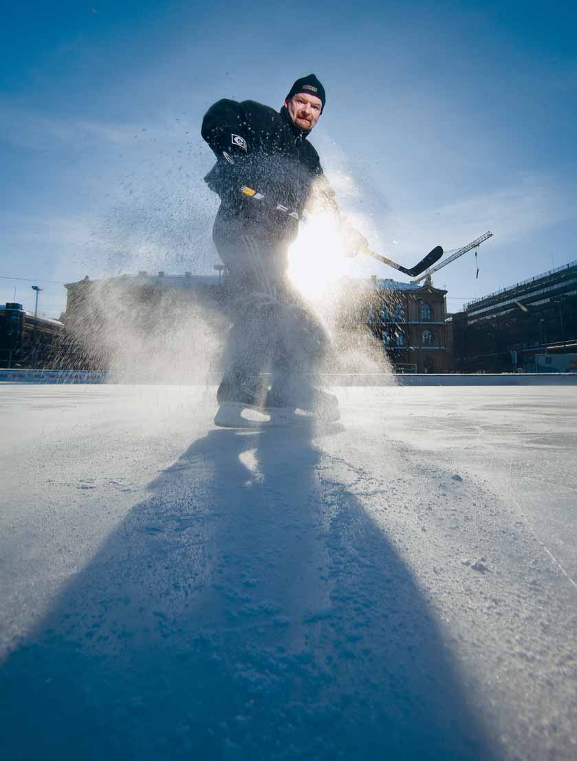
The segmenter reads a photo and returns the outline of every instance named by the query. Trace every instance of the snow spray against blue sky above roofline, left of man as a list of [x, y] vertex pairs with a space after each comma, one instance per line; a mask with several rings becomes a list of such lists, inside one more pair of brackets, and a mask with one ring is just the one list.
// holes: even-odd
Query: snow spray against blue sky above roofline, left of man
[[[148, 138], [153, 142], [140, 138], [116, 180], [110, 178], [107, 203], [84, 250], [88, 271], [104, 276], [143, 269], [212, 272], [218, 199], [202, 181], [211, 159], [185, 126], [176, 120]], [[155, 131], [148, 129], [148, 135]]]

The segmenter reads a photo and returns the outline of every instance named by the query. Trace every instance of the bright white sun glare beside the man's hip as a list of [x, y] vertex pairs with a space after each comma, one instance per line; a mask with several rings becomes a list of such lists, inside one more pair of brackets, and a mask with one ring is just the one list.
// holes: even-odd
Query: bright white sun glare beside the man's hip
[[339, 228], [335, 221], [314, 218], [301, 224], [288, 250], [288, 276], [304, 295], [321, 295], [346, 272]]

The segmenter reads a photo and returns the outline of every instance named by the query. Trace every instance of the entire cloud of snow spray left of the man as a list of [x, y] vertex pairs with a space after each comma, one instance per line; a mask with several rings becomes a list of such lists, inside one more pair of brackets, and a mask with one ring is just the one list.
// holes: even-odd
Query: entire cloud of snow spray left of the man
[[222, 324], [207, 297], [215, 288], [196, 275], [215, 275], [218, 204], [202, 182], [212, 160], [199, 137], [190, 137], [197, 132], [184, 120], [160, 118], [116, 139], [113, 172], [76, 257], [78, 269], [96, 279], [73, 286], [73, 298], [69, 291], [72, 342], [62, 364], [107, 369], [126, 382], [208, 377]]

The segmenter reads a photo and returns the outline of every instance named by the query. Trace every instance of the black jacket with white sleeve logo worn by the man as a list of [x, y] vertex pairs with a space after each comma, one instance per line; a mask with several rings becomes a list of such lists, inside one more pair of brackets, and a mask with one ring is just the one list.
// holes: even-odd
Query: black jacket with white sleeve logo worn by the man
[[[314, 185], [333, 203], [308, 132], [298, 129], [285, 107], [277, 112], [254, 100], [218, 100], [202, 119], [202, 137], [217, 159], [205, 181], [221, 199], [219, 216], [237, 220], [245, 231], [261, 228], [290, 242], [298, 222], [276, 211], [277, 204], [300, 215]], [[265, 199], [243, 196], [242, 186]]]

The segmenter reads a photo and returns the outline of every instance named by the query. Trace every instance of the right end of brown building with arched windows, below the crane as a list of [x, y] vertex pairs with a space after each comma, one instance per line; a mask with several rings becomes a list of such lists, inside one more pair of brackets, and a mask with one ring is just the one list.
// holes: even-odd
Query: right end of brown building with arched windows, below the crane
[[452, 369], [447, 291], [430, 279], [422, 285], [371, 279], [374, 298], [367, 323], [399, 372], [448, 373]]

